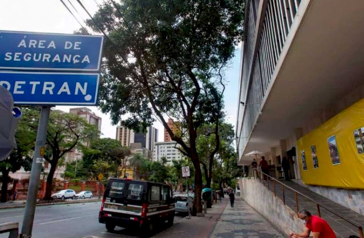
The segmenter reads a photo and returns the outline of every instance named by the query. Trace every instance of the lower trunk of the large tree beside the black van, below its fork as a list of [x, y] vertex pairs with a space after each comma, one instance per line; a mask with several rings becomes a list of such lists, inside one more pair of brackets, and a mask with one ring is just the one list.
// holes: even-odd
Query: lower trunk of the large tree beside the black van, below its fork
[[197, 152], [193, 153], [191, 157], [192, 163], [195, 167], [195, 200], [193, 204], [192, 215], [196, 216], [196, 213], [202, 212], [202, 173]]

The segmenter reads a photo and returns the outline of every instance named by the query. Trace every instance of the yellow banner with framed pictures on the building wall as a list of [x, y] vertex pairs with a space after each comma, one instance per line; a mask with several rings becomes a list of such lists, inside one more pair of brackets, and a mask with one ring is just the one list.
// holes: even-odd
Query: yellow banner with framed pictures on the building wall
[[364, 99], [297, 141], [302, 181], [364, 189]]

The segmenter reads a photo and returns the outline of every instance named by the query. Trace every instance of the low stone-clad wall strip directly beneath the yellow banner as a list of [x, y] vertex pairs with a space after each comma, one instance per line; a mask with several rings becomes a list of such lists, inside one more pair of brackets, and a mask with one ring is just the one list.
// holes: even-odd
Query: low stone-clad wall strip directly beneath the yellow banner
[[300, 179], [292, 181], [314, 191], [328, 199], [346, 206], [347, 208], [364, 215], [364, 190], [346, 190], [323, 186], [309, 186], [304, 184]]

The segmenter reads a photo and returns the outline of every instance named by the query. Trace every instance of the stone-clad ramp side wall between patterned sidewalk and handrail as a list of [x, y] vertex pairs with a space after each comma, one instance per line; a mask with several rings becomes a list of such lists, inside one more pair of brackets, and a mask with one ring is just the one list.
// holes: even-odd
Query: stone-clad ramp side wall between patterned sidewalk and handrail
[[292, 231], [304, 230], [304, 224], [296, 212], [283, 205], [281, 199], [275, 197], [272, 191], [268, 191], [258, 179], [241, 178], [239, 183], [241, 198], [282, 233], [288, 235]]

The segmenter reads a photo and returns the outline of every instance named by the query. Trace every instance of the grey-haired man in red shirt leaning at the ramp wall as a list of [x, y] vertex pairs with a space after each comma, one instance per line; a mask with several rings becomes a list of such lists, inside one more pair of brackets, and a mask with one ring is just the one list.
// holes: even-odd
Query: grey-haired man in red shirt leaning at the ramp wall
[[311, 215], [311, 213], [305, 209], [298, 212], [298, 217], [304, 221], [306, 228], [301, 233], [289, 234], [292, 238], [309, 237], [312, 232], [313, 238], [336, 238], [334, 231], [330, 225], [322, 218]]

